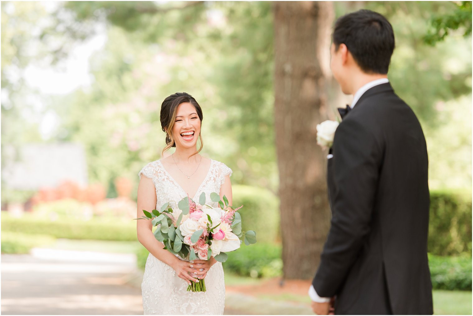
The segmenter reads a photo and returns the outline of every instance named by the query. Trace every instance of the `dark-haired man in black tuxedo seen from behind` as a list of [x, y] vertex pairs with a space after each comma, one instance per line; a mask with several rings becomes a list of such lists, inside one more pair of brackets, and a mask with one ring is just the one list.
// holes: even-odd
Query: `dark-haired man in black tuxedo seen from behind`
[[382, 15], [337, 20], [330, 67], [345, 94], [328, 157], [332, 221], [309, 295], [314, 312], [432, 314], [428, 159], [412, 109], [387, 79], [394, 33]]

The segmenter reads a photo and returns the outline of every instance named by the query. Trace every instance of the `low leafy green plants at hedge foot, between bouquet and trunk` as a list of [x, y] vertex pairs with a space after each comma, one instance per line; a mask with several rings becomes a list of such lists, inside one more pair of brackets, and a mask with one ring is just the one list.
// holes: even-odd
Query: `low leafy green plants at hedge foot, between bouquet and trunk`
[[275, 277], [282, 273], [281, 246], [277, 244], [242, 245], [229, 252], [225, 271], [253, 278]]

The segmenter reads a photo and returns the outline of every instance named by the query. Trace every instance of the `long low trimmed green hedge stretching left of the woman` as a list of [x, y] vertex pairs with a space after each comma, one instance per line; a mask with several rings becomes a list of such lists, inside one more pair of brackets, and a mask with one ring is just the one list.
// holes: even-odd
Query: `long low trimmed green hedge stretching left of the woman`
[[1, 217], [3, 232], [49, 235], [66, 239], [93, 239], [135, 241], [136, 223], [130, 224], [105, 223], [98, 220], [58, 220], [49, 221], [33, 217], [13, 218], [6, 215]]

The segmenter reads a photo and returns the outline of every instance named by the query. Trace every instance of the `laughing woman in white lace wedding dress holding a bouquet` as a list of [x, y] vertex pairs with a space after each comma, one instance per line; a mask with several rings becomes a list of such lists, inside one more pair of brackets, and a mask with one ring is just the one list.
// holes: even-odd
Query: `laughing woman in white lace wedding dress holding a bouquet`
[[[161, 126], [166, 132], [163, 153], [171, 147], [175, 147], [175, 153], [148, 163], [139, 172], [138, 217], [143, 216], [143, 209], [159, 210], [166, 202], [179, 201], [186, 196], [197, 201], [202, 192], [207, 201], [210, 201], [210, 193], [219, 192], [231, 205], [232, 171], [224, 163], [199, 154], [201, 123], [202, 109], [191, 95], [178, 92], [163, 101]], [[215, 202], [208, 204], [218, 207]], [[222, 264], [213, 257], [209, 261], [184, 261], [163, 249], [164, 244], [156, 240], [151, 231], [150, 220], [137, 221], [136, 228], [138, 240], [149, 251], [141, 284], [144, 314], [222, 315], [225, 303]], [[191, 280], [198, 282], [204, 278], [206, 292], [187, 291]]]

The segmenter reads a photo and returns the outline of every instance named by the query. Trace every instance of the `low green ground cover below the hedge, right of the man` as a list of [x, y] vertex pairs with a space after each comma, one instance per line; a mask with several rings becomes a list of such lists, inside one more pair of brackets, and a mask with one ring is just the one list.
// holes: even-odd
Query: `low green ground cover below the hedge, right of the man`
[[472, 258], [440, 257], [429, 254], [430, 277], [434, 289], [472, 290]]

